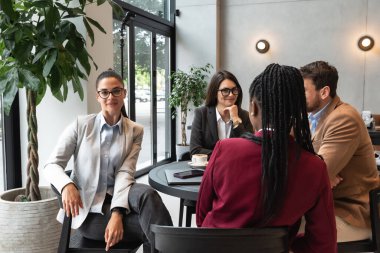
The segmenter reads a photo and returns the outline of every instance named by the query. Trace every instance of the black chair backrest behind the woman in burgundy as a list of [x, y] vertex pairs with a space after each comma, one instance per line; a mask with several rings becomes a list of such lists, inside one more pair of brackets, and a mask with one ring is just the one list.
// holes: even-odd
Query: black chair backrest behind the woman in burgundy
[[225, 229], [152, 225], [151, 229], [152, 248], [162, 253], [289, 252], [285, 227]]

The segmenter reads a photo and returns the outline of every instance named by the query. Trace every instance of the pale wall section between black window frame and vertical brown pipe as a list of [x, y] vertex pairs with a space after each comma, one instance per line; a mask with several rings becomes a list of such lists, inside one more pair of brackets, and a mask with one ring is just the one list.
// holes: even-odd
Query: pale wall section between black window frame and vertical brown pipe
[[[218, 0], [177, 0], [176, 8], [176, 63], [177, 69], [188, 71], [190, 66], [210, 63], [219, 68]], [[212, 74], [212, 73], [211, 73]], [[211, 75], [210, 75], [211, 76]], [[192, 108], [192, 105], [190, 105]], [[179, 114], [178, 114], [179, 115]], [[187, 126], [193, 121], [193, 111], [188, 112]], [[180, 118], [177, 119], [177, 143], [181, 140]], [[186, 131], [190, 141], [190, 130]]]

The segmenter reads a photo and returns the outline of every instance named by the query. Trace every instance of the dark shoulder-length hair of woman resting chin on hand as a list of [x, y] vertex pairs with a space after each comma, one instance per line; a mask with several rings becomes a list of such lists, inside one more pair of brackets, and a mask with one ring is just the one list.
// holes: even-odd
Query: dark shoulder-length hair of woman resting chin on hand
[[227, 70], [220, 70], [212, 76], [207, 88], [205, 105], [216, 106], [218, 104], [218, 90], [219, 90], [220, 84], [224, 80], [231, 80], [232, 82], [236, 84], [236, 87], [239, 89], [239, 95], [236, 99], [235, 105], [237, 105], [237, 107], [240, 108], [241, 102], [243, 100], [243, 92], [241, 90], [241, 86], [237, 78], [231, 72]]

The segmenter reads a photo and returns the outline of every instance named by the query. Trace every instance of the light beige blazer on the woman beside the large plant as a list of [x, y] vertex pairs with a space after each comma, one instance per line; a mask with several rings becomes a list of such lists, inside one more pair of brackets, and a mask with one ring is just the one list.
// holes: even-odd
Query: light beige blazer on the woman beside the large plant
[[[80, 227], [89, 213], [98, 187], [100, 174], [100, 114], [78, 117], [61, 135], [55, 149], [43, 168], [43, 174], [58, 191], [68, 183], [74, 183], [83, 202], [83, 209], [73, 218], [72, 228]], [[135, 182], [136, 162], [141, 150], [143, 127], [123, 118], [124, 144], [120, 166], [115, 171], [115, 186], [111, 209], [124, 207], [129, 212], [128, 193]], [[74, 168], [68, 177], [64, 169], [74, 156]], [[64, 211], [61, 209], [57, 219], [62, 222]]]

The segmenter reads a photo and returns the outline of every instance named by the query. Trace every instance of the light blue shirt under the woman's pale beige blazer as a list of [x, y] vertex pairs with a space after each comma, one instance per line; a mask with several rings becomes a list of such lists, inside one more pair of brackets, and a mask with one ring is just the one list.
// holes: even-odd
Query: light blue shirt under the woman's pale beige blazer
[[113, 126], [107, 124], [104, 116], [100, 117], [100, 175], [98, 188], [90, 212], [102, 213], [106, 193], [113, 195], [115, 168], [120, 163], [122, 148], [122, 124], [120, 120]]

